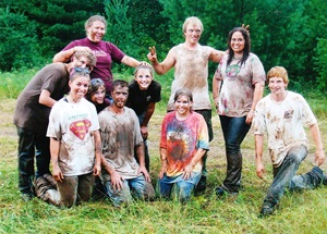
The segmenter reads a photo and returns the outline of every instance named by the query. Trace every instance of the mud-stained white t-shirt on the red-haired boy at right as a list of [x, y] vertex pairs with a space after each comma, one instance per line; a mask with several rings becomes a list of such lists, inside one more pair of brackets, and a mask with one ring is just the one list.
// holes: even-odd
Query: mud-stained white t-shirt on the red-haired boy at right
[[269, 155], [275, 168], [279, 167], [288, 151], [296, 145], [307, 145], [303, 126], [317, 123], [305, 99], [293, 91], [287, 91], [281, 102], [270, 95], [258, 101], [253, 121], [254, 134], [268, 135]]

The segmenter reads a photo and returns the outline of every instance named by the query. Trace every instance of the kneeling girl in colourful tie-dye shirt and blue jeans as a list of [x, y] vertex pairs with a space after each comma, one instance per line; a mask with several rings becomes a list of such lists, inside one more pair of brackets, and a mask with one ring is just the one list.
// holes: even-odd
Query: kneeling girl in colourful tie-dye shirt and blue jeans
[[175, 185], [181, 201], [191, 197], [202, 175], [202, 158], [209, 149], [206, 122], [192, 106], [192, 93], [177, 90], [175, 111], [166, 114], [161, 125], [159, 193], [169, 197]]

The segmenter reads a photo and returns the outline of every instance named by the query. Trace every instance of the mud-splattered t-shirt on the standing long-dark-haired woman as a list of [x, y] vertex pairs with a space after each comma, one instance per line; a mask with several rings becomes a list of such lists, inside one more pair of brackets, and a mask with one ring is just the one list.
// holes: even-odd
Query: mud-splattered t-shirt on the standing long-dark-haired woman
[[221, 59], [215, 78], [223, 81], [219, 95], [218, 114], [231, 118], [246, 115], [252, 107], [254, 85], [266, 81], [266, 74], [261, 60], [250, 53], [245, 63], [232, 59], [227, 66], [228, 54]]

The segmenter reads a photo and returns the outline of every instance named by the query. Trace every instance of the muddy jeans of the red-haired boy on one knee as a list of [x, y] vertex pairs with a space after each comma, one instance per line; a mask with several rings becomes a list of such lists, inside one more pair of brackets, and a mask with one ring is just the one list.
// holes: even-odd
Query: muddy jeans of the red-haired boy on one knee
[[281, 165], [274, 169], [274, 182], [264, 204], [272, 207], [277, 205], [287, 187], [290, 190], [315, 187], [316, 183], [310, 172], [304, 175], [295, 175], [306, 155], [307, 148], [304, 145], [294, 146], [289, 150]]

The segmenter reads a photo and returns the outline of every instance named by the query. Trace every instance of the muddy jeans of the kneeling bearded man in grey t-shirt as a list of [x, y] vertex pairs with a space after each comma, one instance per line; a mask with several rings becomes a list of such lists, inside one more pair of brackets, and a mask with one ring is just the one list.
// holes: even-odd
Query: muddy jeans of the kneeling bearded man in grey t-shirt
[[132, 195], [144, 200], [155, 198], [155, 189], [149, 182], [145, 181], [144, 175], [125, 178], [123, 181], [123, 188], [120, 190], [114, 190], [110, 181], [105, 181], [104, 184], [108, 197], [116, 207], [119, 207], [121, 204], [131, 202]]

